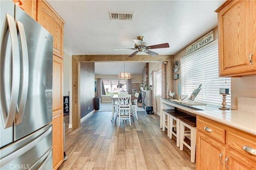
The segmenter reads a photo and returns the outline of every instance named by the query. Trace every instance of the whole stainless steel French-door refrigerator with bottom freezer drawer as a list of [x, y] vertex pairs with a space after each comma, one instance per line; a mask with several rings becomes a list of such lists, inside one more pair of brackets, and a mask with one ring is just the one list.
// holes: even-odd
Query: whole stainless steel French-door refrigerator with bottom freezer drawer
[[0, 0], [0, 169], [52, 169], [52, 35]]

